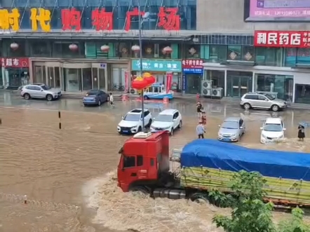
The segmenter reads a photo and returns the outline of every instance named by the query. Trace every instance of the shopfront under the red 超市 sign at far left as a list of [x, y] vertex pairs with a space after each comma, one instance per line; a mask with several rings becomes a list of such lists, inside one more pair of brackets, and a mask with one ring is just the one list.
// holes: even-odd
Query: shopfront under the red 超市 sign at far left
[[2, 82], [6, 89], [17, 90], [29, 81], [29, 59], [6, 57], [1, 59]]

